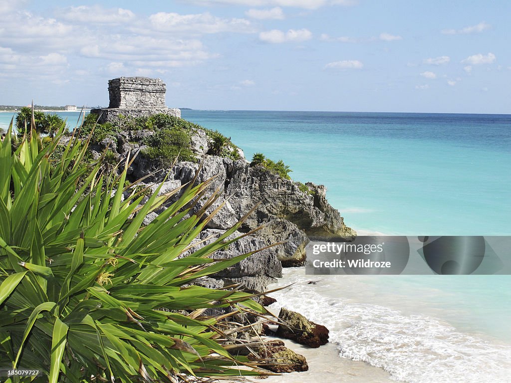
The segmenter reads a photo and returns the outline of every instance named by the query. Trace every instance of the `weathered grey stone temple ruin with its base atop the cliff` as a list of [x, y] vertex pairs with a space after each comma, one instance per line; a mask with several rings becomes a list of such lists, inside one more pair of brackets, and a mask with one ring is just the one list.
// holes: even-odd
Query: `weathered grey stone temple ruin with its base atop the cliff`
[[177, 108], [165, 105], [167, 87], [160, 79], [148, 77], [121, 77], [108, 81], [110, 104], [108, 108], [92, 109], [90, 113], [98, 114], [99, 123], [117, 122], [119, 115], [141, 117], [164, 113], [181, 117]]

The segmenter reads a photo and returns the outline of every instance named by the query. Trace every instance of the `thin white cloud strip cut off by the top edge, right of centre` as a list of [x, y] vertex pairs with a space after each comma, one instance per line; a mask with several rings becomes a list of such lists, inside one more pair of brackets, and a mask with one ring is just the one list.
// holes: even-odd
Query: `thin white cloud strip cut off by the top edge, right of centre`
[[356, 0], [192, 0], [190, 3], [199, 5], [230, 4], [247, 7], [295, 7], [317, 9], [329, 5], [351, 6], [357, 4]]

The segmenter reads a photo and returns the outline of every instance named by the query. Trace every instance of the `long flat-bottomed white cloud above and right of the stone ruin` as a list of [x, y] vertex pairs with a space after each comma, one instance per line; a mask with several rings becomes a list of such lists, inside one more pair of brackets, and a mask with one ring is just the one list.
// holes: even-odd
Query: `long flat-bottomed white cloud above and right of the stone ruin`
[[[208, 12], [181, 15], [179, 13], [158, 12], [149, 16], [150, 26], [160, 32], [187, 32], [194, 34], [220, 32], [254, 32], [250, 21], [243, 18], [220, 18]], [[144, 33], [147, 26], [135, 29]], [[147, 32], [146, 32], [147, 33]]]

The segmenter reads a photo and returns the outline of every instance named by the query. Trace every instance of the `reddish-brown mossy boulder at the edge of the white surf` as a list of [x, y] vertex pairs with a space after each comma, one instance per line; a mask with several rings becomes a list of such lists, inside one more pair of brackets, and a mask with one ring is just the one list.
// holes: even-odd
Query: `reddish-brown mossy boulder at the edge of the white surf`
[[328, 343], [329, 330], [325, 326], [309, 321], [303, 315], [281, 308], [276, 335], [300, 344], [317, 348]]

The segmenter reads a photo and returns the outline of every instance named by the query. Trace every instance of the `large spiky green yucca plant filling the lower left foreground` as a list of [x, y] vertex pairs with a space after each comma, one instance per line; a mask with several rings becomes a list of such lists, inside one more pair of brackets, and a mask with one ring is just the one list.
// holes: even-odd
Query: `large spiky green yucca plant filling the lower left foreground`
[[189, 207], [211, 180], [180, 190], [176, 202], [143, 226], [177, 190], [158, 196], [158, 187], [144, 205], [146, 190], [123, 199], [128, 188], [115, 185], [125, 184], [128, 160], [120, 175], [102, 174], [99, 163], [84, 165], [88, 140], [77, 134], [64, 140], [65, 130], [42, 145], [32, 129], [14, 150], [11, 123], [0, 146], [0, 368], [41, 371], [7, 381], [259, 374], [222, 346], [220, 317], [201, 313], [265, 309], [236, 290], [183, 287], [251, 254], [212, 257], [235, 241], [226, 238], [239, 222], [180, 257], [212, 218], [207, 206], [196, 214]]

